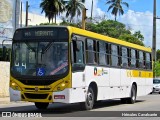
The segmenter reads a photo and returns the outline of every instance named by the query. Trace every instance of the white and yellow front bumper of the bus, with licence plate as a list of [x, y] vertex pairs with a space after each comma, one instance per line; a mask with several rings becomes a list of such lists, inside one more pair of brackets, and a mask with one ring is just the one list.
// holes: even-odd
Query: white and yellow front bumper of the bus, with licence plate
[[10, 87], [10, 101], [69, 103], [69, 90], [59, 92], [23, 92]]

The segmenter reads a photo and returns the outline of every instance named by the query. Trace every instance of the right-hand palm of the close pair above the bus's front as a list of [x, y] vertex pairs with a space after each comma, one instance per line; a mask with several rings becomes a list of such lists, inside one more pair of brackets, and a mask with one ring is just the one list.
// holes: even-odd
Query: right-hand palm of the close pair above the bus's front
[[73, 17], [77, 15], [80, 16], [83, 8], [85, 8], [84, 3], [85, 0], [69, 0], [67, 2], [66, 8], [66, 17], [70, 16], [70, 22], [72, 21]]

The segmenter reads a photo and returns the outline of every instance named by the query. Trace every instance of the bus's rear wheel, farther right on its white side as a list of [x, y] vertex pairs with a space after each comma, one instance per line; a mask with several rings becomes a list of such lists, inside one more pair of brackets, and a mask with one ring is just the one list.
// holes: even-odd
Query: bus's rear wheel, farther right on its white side
[[132, 85], [131, 97], [128, 98], [128, 103], [134, 104], [134, 103], [136, 102], [136, 96], [137, 96], [136, 86], [135, 86], [135, 85]]

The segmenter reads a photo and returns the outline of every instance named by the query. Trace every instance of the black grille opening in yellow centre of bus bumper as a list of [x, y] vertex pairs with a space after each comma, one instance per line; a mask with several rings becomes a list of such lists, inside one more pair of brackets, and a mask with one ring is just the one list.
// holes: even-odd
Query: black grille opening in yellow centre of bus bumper
[[30, 99], [46, 99], [48, 94], [32, 94], [32, 93], [24, 93], [27, 98]]

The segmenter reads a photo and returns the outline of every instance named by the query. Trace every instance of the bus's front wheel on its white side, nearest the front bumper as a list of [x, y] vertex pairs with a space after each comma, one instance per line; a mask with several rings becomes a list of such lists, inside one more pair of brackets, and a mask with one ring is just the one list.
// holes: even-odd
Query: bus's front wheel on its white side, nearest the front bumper
[[86, 95], [86, 100], [85, 102], [81, 103], [81, 107], [83, 110], [91, 110], [94, 106], [94, 91], [92, 87], [89, 87]]

